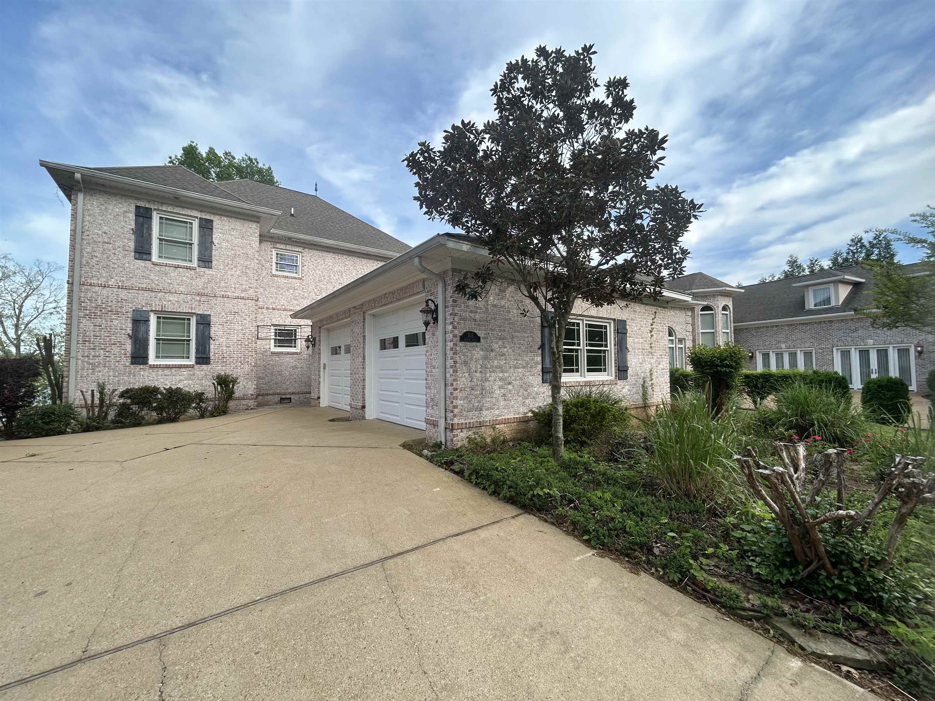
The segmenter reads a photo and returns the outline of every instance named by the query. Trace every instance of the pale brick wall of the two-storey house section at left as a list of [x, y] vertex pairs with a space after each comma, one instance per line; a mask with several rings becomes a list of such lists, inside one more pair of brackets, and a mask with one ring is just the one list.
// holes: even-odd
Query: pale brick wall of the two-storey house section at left
[[[65, 337], [70, 337], [70, 308], [76, 207], [72, 194], [69, 280]], [[206, 217], [214, 222], [212, 267], [170, 265], [134, 258], [135, 206]], [[155, 237], [153, 236], [153, 246]], [[273, 250], [302, 254], [299, 278], [273, 272]], [[153, 256], [154, 258], [155, 256]], [[295, 309], [329, 293], [381, 264], [381, 260], [261, 237], [258, 222], [217, 212], [180, 207], [86, 188], [81, 249], [81, 284], [76, 357], [76, 402], [98, 380], [118, 390], [143, 384], [181, 386], [212, 394], [211, 376], [230, 373], [240, 379], [232, 408], [276, 404], [281, 396], [309, 403], [313, 368], [302, 343], [294, 352], [274, 352], [263, 336], [268, 325], [298, 325]], [[130, 365], [133, 309], [211, 315], [210, 365]], [[69, 365], [65, 350], [65, 383]], [[90, 396], [90, 395], [89, 395]]]

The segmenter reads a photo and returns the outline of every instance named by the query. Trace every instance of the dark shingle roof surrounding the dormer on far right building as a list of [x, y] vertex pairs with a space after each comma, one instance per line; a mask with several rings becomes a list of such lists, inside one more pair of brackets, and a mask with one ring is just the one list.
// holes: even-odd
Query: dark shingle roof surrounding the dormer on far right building
[[[913, 270], [918, 264], [904, 265]], [[822, 317], [828, 314], [853, 313], [856, 308], [867, 307], [872, 301], [873, 270], [863, 265], [826, 268], [811, 275], [785, 278], [746, 285], [743, 294], [734, 299], [734, 323], [765, 322], [770, 320]], [[852, 282], [850, 279], [862, 279]], [[805, 308], [805, 293], [809, 282], [841, 279], [853, 286], [838, 307]], [[804, 283], [804, 284], [803, 284]]]

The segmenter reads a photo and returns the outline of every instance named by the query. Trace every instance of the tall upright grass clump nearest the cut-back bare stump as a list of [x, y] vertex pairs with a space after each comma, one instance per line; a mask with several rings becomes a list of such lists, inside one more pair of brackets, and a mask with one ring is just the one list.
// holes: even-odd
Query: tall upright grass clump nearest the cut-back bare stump
[[734, 403], [719, 417], [702, 393], [681, 393], [640, 420], [649, 443], [647, 468], [669, 494], [713, 500], [734, 491], [737, 423]]

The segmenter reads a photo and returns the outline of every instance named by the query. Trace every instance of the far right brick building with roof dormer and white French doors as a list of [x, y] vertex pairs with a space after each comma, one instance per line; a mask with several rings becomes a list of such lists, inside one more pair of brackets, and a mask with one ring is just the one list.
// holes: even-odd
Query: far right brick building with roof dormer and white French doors
[[870, 378], [893, 375], [913, 392], [931, 391], [935, 336], [873, 328], [856, 312], [871, 306], [872, 285], [873, 270], [855, 265], [744, 287], [734, 329], [750, 353], [750, 368], [836, 370], [855, 390]]

